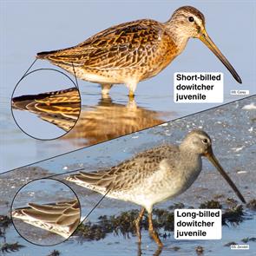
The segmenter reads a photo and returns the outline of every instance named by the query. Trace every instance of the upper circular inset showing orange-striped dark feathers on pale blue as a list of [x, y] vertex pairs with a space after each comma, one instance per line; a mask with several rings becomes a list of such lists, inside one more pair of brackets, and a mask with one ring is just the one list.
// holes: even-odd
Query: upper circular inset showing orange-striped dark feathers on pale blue
[[81, 96], [68, 75], [56, 69], [35, 69], [17, 83], [11, 110], [25, 134], [53, 140], [75, 126], [81, 112]]

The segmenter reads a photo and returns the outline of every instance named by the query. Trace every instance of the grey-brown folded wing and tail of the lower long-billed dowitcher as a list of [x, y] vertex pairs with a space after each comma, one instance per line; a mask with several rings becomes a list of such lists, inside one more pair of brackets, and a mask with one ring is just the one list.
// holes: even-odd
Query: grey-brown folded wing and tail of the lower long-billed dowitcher
[[72, 174], [67, 178], [83, 187], [88, 187], [98, 192], [115, 190], [128, 190], [134, 187], [141, 179], [147, 179], [159, 169], [161, 161], [170, 154], [178, 153], [178, 148], [164, 145], [152, 148], [135, 155], [128, 161], [123, 161], [115, 167], [98, 172]]

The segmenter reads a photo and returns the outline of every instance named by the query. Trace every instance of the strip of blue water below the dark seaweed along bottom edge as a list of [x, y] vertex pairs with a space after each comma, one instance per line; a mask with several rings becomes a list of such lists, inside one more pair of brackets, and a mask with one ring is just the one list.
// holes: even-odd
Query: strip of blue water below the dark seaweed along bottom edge
[[[246, 255], [252, 256], [256, 250], [256, 242], [249, 242], [249, 250], [231, 250], [226, 243], [235, 241], [238, 244], [243, 244], [240, 240], [245, 237], [255, 237], [255, 216], [253, 220], [246, 220], [240, 226], [224, 226], [222, 228], [222, 240], [174, 240], [174, 237], [164, 240], [165, 246], [162, 249], [161, 256], [165, 255], [198, 255], [195, 253], [197, 246], [204, 247], [203, 255], [219, 256], [219, 255]], [[10, 241], [16, 241], [17, 237], [12, 227], [10, 227]], [[246, 232], [246, 233], [245, 233]], [[157, 246], [149, 239], [148, 232], [142, 232], [141, 254], [138, 253], [136, 238], [123, 238], [120, 236], [109, 235], [105, 240], [78, 243], [77, 240], [70, 239], [58, 246], [32, 246], [27, 242], [21, 241], [26, 246], [17, 253], [11, 255], [48, 255], [53, 250], [59, 250], [61, 255], [156, 255]], [[174, 251], [174, 246], [179, 246], [181, 249]], [[40, 253], [40, 254], [39, 254]]]

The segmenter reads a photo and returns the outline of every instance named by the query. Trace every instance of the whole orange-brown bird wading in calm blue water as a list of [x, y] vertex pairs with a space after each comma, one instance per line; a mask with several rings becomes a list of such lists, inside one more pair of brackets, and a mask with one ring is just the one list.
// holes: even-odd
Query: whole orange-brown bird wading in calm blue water
[[237, 82], [240, 76], [207, 35], [205, 17], [191, 6], [174, 11], [166, 22], [142, 19], [122, 23], [89, 37], [67, 49], [40, 52], [46, 59], [71, 74], [102, 85], [102, 95], [113, 84], [125, 84], [129, 95], [137, 83], [165, 69], [185, 49], [189, 38], [199, 38], [226, 66]]

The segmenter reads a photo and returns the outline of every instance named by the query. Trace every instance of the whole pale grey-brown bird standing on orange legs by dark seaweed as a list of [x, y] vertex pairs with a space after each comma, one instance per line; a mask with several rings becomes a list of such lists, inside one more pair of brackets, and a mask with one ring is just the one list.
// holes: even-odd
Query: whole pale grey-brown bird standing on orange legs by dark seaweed
[[158, 246], [162, 246], [152, 221], [154, 204], [182, 194], [194, 183], [202, 169], [201, 156], [206, 156], [213, 163], [240, 200], [246, 202], [214, 156], [211, 138], [201, 130], [190, 132], [179, 146], [170, 144], [152, 148], [110, 169], [72, 174], [67, 180], [101, 194], [108, 193], [109, 198], [141, 206], [135, 220], [139, 243], [140, 222], [146, 209], [149, 234]]

